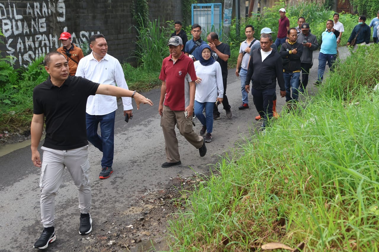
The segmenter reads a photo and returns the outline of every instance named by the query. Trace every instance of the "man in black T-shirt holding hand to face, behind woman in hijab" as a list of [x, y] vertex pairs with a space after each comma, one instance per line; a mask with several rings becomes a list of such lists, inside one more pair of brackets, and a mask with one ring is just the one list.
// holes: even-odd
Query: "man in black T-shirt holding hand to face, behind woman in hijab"
[[[218, 35], [215, 32], [211, 32], [207, 36], [208, 45], [212, 49], [212, 57], [220, 63], [222, 73], [222, 83], [224, 84], [224, 99], [222, 105], [224, 106], [226, 117], [232, 118], [232, 111], [230, 111], [230, 105], [228, 97], [226, 96], [226, 79], [228, 78], [228, 59], [230, 57], [230, 47], [228, 44], [222, 43], [218, 40]], [[213, 107], [213, 120], [220, 119], [220, 112], [215, 104]]]

